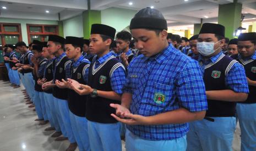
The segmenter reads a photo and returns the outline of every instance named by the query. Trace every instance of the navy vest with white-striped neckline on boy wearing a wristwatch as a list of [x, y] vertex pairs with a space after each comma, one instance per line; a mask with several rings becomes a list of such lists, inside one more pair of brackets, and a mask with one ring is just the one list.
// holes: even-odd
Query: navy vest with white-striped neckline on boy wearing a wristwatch
[[[104, 63], [102, 63], [96, 70], [94, 69], [95, 61], [91, 63], [88, 85], [97, 90], [113, 91], [110, 79], [111, 69], [121, 66], [121, 63], [115, 57], [112, 57], [108, 61], [106, 60]], [[116, 110], [110, 107], [110, 103], [120, 104], [121, 102], [100, 96], [95, 98], [89, 96], [86, 103], [85, 117], [90, 121], [98, 123], [117, 123], [117, 120], [110, 115], [116, 113]]]

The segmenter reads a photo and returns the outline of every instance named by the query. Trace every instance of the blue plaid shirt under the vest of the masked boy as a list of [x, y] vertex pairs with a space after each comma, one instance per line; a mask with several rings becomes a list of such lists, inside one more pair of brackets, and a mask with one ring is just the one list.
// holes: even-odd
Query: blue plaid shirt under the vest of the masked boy
[[[211, 62], [216, 62], [219, 59], [219, 57], [221, 57], [221, 55], [223, 55], [222, 52], [210, 57], [208, 61], [204, 61], [203, 56], [199, 55], [198, 61], [203, 63], [203, 66], [201, 66], [203, 71], [206, 65], [208, 65]], [[230, 71], [226, 74], [225, 85], [227, 88], [235, 92], [243, 92], [247, 94], [249, 93], [246, 72], [244, 71], [244, 68], [240, 63], [236, 62], [231, 67]]]

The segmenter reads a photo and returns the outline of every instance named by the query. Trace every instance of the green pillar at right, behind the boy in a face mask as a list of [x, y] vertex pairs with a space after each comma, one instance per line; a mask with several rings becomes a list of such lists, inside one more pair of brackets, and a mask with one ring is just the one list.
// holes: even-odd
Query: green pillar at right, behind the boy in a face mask
[[225, 26], [225, 37], [232, 39], [235, 30], [241, 26], [242, 4], [235, 0], [230, 4], [219, 5], [218, 24]]

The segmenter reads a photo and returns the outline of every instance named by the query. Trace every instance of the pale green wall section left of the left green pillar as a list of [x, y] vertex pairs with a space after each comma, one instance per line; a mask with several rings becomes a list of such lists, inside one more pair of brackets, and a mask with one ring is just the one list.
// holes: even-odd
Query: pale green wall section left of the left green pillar
[[63, 21], [64, 37], [75, 36], [84, 37], [83, 34], [83, 16], [80, 14], [73, 18]]

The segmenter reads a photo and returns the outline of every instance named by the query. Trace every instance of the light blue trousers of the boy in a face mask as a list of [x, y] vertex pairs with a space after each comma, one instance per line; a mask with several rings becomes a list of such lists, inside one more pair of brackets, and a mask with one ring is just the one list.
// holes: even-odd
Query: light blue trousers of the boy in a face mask
[[188, 151], [232, 151], [233, 135], [236, 130], [235, 117], [211, 117], [189, 123], [187, 133]]

